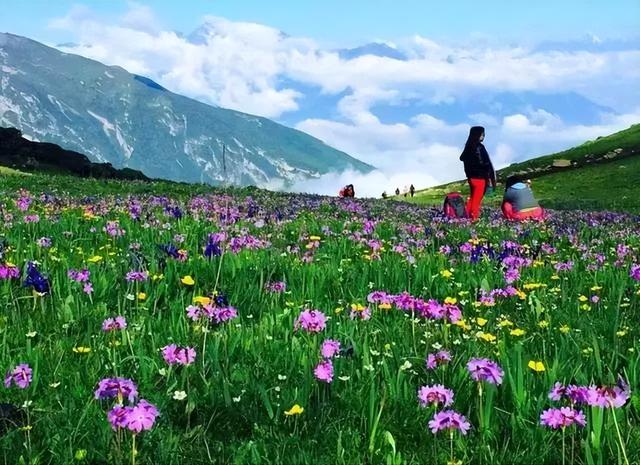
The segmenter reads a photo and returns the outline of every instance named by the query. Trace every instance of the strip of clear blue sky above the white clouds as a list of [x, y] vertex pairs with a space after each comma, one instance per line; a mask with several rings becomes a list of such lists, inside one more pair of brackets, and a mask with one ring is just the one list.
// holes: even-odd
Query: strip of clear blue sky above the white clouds
[[[83, 4], [114, 19], [126, 0], [2, 0], [0, 30], [48, 42], [68, 34], [48, 21]], [[188, 33], [205, 15], [268, 24], [327, 45], [355, 45], [420, 34], [435, 40], [489, 38], [506, 41], [568, 39], [591, 33], [627, 37], [640, 31], [638, 0], [154, 0], [149, 5], [166, 29]]]

